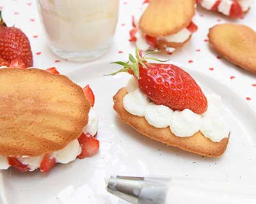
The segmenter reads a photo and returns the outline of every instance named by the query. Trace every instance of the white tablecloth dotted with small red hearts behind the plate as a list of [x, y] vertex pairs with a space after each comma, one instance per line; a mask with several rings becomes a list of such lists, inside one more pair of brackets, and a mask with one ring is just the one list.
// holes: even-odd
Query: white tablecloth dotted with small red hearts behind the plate
[[[131, 15], [134, 15], [134, 11], [142, 2], [141, 0], [120, 0], [119, 20], [113, 46], [97, 61], [125, 60], [129, 53], [134, 52], [134, 45], [129, 42]], [[71, 71], [84, 65], [83, 63], [65, 61], [51, 52], [42, 33], [35, 0], [0, 0], [0, 8], [3, 9], [3, 18], [6, 24], [19, 27], [28, 36], [35, 67], [45, 69], [56, 66], [61, 73], [68, 75]], [[211, 75], [239, 93], [241, 98], [254, 109], [256, 105], [255, 75], [218, 56], [209, 47], [207, 33], [210, 27], [224, 22], [245, 24], [256, 30], [256, 3], [243, 19], [230, 20], [218, 13], [197, 8], [194, 21], [198, 25], [198, 31], [193, 34], [191, 41], [172, 55], [161, 55], [161, 58], [170, 59], [188, 68]]]

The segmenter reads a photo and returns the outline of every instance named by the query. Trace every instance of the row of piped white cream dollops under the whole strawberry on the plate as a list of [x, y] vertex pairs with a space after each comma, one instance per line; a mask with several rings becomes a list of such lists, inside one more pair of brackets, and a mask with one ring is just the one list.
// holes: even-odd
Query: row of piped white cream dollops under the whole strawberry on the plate
[[[176, 136], [192, 136], [200, 131], [212, 142], [220, 142], [228, 137], [229, 129], [222, 117], [224, 107], [221, 97], [216, 94], [207, 94], [207, 112], [196, 114], [189, 109], [173, 110], [168, 106], [149, 103], [147, 96], [140, 91], [138, 84], [131, 77], [127, 83], [128, 94], [125, 95], [123, 105], [132, 115], [145, 117], [148, 124], [155, 128], [170, 126]], [[218, 117], [216, 117], [218, 115]], [[219, 120], [219, 121], [216, 121]]]

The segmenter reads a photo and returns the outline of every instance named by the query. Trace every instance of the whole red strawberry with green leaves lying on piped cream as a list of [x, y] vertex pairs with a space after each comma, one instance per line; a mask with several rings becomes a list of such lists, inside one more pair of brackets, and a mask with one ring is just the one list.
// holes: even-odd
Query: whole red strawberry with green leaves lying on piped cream
[[147, 57], [147, 55], [143, 57], [136, 48], [136, 59], [131, 54], [129, 55], [131, 64], [113, 62], [124, 66], [116, 73], [132, 73], [140, 90], [157, 105], [166, 105], [173, 110], [188, 108], [198, 114], [207, 110], [204, 92], [189, 73], [173, 64], [148, 63], [147, 60], [159, 60], [155, 57]]

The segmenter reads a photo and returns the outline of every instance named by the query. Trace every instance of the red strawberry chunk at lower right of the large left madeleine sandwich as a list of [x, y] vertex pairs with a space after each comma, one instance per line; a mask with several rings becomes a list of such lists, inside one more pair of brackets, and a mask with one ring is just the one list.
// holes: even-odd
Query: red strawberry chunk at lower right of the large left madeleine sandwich
[[81, 154], [77, 156], [79, 159], [83, 159], [84, 157], [92, 156], [99, 151], [100, 143], [99, 140], [94, 138], [89, 133], [82, 133], [82, 135], [78, 138], [79, 144], [82, 148]]

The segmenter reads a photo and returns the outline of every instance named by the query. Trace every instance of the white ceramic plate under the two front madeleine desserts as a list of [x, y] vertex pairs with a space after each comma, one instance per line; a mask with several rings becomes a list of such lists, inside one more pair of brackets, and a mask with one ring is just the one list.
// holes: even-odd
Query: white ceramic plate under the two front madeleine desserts
[[[125, 203], [106, 193], [109, 175], [161, 175], [253, 184], [256, 182], [256, 114], [243, 99], [221, 82], [188, 70], [203, 87], [223, 96], [225, 114], [231, 129], [225, 154], [212, 159], [184, 152], [175, 147], [141, 136], [118, 120], [113, 111], [112, 96], [124, 87], [129, 75], [104, 77], [119, 67], [101, 62], [88, 64], [70, 72], [68, 77], [81, 85], [90, 84], [96, 96], [99, 113], [100, 152], [77, 159], [67, 165], [56, 165], [50, 173], [17, 173], [3, 171], [2, 203]], [[0, 202], [1, 203], [1, 202]]]

